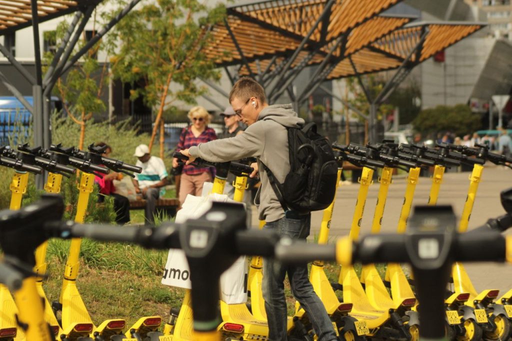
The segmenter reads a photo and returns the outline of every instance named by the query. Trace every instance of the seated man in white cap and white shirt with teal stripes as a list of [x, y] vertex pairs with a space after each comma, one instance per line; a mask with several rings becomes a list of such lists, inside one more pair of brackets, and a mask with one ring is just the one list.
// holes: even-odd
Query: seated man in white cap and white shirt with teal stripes
[[146, 199], [144, 217], [146, 224], [155, 224], [156, 202], [160, 197], [160, 188], [167, 184], [167, 170], [163, 160], [150, 155], [150, 148], [145, 144], [139, 144], [135, 148], [135, 154], [139, 160], [136, 166], [142, 168], [140, 174], [135, 174], [133, 185], [135, 192], [142, 194]]

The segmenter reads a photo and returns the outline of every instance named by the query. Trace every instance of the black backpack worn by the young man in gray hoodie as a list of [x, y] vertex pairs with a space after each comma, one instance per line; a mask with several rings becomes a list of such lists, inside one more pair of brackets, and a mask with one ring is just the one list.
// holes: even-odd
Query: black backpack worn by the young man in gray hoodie
[[316, 133], [310, 122], [301, 128], [289, 128], [290, 173], [284, 183], [263, 164], [270, 185], [286, 211], [302, 214], [327, 208], [334, 199], [338, 166], [331, 144]]

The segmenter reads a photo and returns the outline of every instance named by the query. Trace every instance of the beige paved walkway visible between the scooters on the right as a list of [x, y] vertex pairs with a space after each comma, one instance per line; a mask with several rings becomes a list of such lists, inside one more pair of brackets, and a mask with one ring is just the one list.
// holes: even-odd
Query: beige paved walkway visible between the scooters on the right
[[[469, 185], [468, 177], [471, 173], [446, 173], [441, 185], [438, 204], [449, 204], [454, 207], [455, 214], [460, 217]], [[426, 204], [432, 181], [422, 177], [416, 186], [413, 206]], [[370, 232], [374, 207], [377, 201], [379, 184], [375, 182], [370, 186], [365, 214], [361, 223], [361, 235]], [[476, 196], [475, 205], [468, 229], [484, 224], [487, 219], [495, 218], [504, 213], [500, 203], [500, 191], [512, 187], [512, 169], [501, 166], [486, 166], [483, 172]], [[393, 180], [389, 188], [386, 209], [382, 219], [382, 231], [394, 232], [398, 223], [400, 209], [405, 193], [406, 179], [402, 176]], [[331, 236], [348, 235], [354, 213], [354, 206], [359, 189], [358, 184], [342, 185], [336, 193], [336, 203], [331, 223]], [[253, 215], [253, 226], [257, 226], [257, 215]], [[313, 212], [311, 236], [318, 233], [322, 221], [322, 212]], [[512, 234], [510, 229], [507, 234]], [[478, 252], [478, 250], [475, 250]], [[512, 265], [495, 263], [472, 263], [465, 265], [477, 291], [483, 289], [500, 289], [505, 293], [512, 289]]]

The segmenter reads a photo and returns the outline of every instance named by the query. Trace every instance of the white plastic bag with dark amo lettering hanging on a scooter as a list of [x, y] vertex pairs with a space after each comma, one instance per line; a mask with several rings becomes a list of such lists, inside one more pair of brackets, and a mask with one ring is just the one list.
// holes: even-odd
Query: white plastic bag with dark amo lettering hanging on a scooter
[[[205, 183], [206, 185], [206, 183]], [[187, 219], [201, 217], [211, 207], [212, 201], [234, 202], [223, 194], [208, 194], [205, 197], [188, 195], [182, 209], [176, 215], [176, 223], [183, 223]], [[227, 304], [247, 302], [247, 260], [240, 257], [222, 275], [220, 280], [221, 300]], [[185, 253], [180, 249], [170, 249], [162, 276], [162, 284], [190, 289], [190, 268]]]

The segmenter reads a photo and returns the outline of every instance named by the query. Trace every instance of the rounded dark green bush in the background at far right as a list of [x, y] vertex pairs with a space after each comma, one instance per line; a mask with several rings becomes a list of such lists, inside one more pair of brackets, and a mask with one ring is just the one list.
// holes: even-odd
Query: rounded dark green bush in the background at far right
[[438, 105], [423, 109], [413, 120], [414, 129], [424, 136], [450, 131], [457, 136], [473, 133], [480, 126], [480, 116], [465, 104]]

